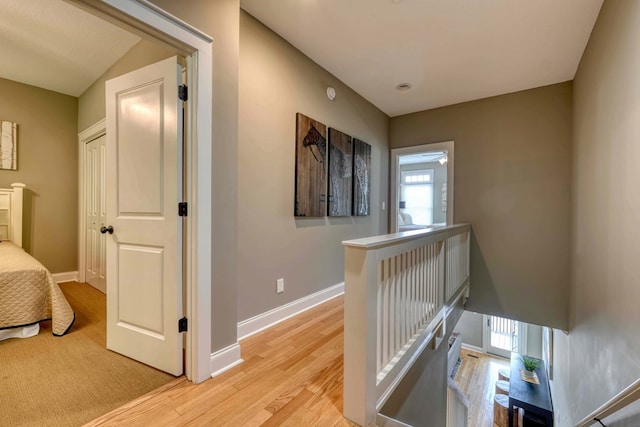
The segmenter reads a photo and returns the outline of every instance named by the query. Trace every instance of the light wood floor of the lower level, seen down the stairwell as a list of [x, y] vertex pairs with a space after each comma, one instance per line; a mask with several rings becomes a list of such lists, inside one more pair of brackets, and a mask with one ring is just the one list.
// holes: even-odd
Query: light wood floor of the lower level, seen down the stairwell
[[495, 382], [500, 369], [509, 369], [509, 361], [465, 349], [460, 351], [460, 358], [455, 381], [469, 399], [469, 427], [494, 427]]

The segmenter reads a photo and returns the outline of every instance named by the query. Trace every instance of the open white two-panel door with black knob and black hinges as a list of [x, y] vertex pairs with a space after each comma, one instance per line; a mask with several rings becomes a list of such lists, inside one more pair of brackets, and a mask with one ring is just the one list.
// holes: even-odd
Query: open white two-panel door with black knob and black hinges
[[174, 57], [106, 84], [107, 348], [173, 375], [183, 372], [179, 76]]

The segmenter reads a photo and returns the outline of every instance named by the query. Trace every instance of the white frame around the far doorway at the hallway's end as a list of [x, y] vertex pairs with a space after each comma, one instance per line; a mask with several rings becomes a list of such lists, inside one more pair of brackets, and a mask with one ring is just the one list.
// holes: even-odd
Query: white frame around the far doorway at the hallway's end
[[[427, 151], [447, 152], [447, 225], [453, 224], [453, 141], [434, 142], [432, 144], [414, 145], [412, 147], [394, 148], [391, 150], [391, 179], [390, 203], [389, 203], [389, 232], [395, 233], [398, 225], [398, 183], [400, 182], [400, 168], [398, 161], [400, 156], [418, 154]], [[435, 191], [435, 189], [434, 189]]]

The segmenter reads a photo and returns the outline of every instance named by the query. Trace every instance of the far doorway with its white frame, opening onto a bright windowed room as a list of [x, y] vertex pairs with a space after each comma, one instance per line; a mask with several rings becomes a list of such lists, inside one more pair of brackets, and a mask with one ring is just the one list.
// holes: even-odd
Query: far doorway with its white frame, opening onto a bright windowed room
[[453, 224], [453, 163], [453, 141], [391, 150], [391, 233]]

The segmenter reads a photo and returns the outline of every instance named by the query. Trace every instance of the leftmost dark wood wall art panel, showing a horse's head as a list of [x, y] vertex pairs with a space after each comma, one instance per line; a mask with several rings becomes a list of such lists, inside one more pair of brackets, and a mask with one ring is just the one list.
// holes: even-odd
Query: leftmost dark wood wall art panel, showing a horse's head
[[327, 214], [327, 127], [296, 114], [295, 216]]

